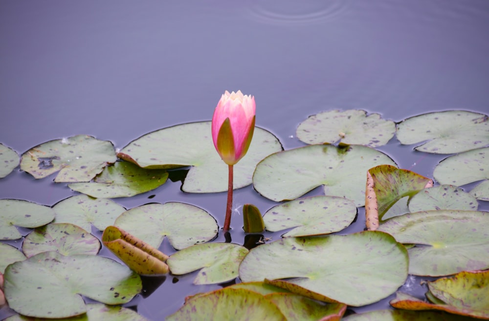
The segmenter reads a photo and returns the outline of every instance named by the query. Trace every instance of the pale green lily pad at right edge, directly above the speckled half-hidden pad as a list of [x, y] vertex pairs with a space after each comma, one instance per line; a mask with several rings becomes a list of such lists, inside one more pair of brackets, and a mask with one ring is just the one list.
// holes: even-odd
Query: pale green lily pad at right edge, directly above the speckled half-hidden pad
[[[487, 182], [489, 179], [489, 147], [469, 150], [445, 158], [435, 167], [433, 176], [440, 184], [456, 186], [480, 180]], [[489, 192], [487, 188], [479, 188], [476, 198], [489, 199], [489, 193], [485, 192]]]

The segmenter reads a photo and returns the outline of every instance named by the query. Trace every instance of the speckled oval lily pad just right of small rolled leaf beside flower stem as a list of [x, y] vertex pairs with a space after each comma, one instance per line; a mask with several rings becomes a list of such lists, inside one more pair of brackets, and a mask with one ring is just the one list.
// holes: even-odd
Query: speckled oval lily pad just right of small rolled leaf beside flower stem
[[272, 207], [263, 219], [268, 231], [294, 228], [283, 237], [321, 235], [348, 227], [356, 216], [356, 206], [338, 196], [299, 198]]

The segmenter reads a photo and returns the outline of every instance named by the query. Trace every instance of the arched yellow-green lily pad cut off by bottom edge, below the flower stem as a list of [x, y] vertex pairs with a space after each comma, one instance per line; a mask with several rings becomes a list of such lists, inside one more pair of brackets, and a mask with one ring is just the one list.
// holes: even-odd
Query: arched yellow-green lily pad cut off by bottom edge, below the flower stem
[[166, 321], [208, 320], [287, 321], [280, 309], [261, 294], [232, 288], [196, 296], [166, 318]]

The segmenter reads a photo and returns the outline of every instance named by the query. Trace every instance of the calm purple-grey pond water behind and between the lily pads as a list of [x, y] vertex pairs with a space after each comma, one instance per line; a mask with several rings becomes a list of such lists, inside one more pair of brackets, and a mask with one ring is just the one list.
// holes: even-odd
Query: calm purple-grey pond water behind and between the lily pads
[[[297, 125], [323, 110], [358, 108], [396, 122], [437, 110], [489, 112], [487, 0], [277, 3], [1, 1], [0, 142], [22, 154], [89, 134], [121, 149], [159, 128], [210, 120], [224, 90], [238, 89], [255, 96], [257, 126], [286, 150], [304, 145]], [[413, 152], [396, 139], [378, 150], [428, 177], [446, 157]], [[18, 170], [0, 180], [0, 198], [51, 206], [73, 194]], [[276, 203], [251, 186], [235, 191], [234, 200], [231, 238], [243, 244], [240, 205], [253, 203], [264, 213]], [[226, 193], [187, 194], [168, 182], [116, 201], [126, 208], [186, 202], [222, 226]], [[489, 206], [480, 202], [479, 209]], [[360, 208], [356, 223], [340, 234], [363, 227]], [[166, 241], [162, 250], [174, 252]], [[108, 250], [102, 255], [113, 257]], [[145, 295], [126, 306], [162, 320], [185, 296], [220, 287], [194, 286], [194, 277], [148, 279]], [[387, 306], [388, 299], [354, 310]], [[10, 313], [1, 310], [0, 320]]]

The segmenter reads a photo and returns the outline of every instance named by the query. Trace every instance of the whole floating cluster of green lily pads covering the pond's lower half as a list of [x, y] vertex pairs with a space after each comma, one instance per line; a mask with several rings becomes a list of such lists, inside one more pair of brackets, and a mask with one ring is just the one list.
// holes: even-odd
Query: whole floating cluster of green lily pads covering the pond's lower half
[[[284, 234], [251, 250], [209, 242], [219, 232], [216, 219], [194, 205], [126, 210], [111, 200], [156, 189], [176, 171], [185, 173], [184, 192], [226, 191], [227, 165], [210, 128], [163, 128], [119, 151], [79, 135], [41, 144], [20, 160], [0, 145], [1, 177], [20, 163], [35, 178], [58, 172], [55, 182], [80, 193], [52, 207], [0, 200], [0, 239], [22, 238], [16, 226], [34, 229], [22, 252], [0, 243], [3, 292], [20, 314], [6, 320], [142, 321], [120, 307], [141, 292], [139, 275], [193, 271], [195, 284], [241, 282], [187, 298], [167, 320], [489, 319], [489, 215], [477, 211], [478, 200], [489, 201], [487, 115], [434, 112], [395, 124], [362, 110], [332, 110], [301, 123], [297, 137], [309, 145], [292, 150], [256, 128], [235, 165], [234, 188], [253, 184], [278, 202], [263, 222]], [[418, 151], [454, 154], [435, 167], [438, 186], [375, 150], [394, 135], [401, 144], [422, 143]], [[469, 192], [459, 187], [478, 181]], [[319, 186], [324, 195], [302, 197]], [[369, 231], [330, 235], [362, 206]], [[92, 226], [104, 231], [101, 240]], [[158, 250], [164, 237], [178, 250], [169, 257]], [[98, 256], [101, 241], [125, 264]], [[409, 274], [451, 277], [428, 282], [429, 301], [397, 292], [391, 305], [399, 309], [343, 317], [347, 306], [396, 293]], [[85, 304], [82, 296], [101, 303]]]

